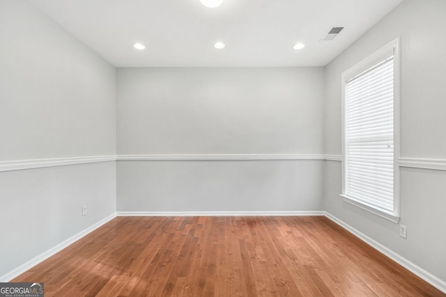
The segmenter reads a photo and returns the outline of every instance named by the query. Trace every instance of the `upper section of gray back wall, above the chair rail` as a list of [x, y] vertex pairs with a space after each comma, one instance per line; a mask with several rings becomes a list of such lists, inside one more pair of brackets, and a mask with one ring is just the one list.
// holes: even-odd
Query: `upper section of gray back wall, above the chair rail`
[[119, 68], [118, 154], [322, 154], [323, 68]]

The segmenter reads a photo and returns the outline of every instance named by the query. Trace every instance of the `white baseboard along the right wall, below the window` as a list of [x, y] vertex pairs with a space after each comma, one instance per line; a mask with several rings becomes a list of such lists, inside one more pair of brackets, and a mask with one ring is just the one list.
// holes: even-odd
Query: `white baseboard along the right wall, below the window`
[[440, 291], [443, 291], [444, 293], [446, 293], [446, 282], [444, 280], [440, 280], [440, 278], [429, 273], [428, 271], [425, 271], [423, 268], [421, 268], [420, 266], [417, 266], [413, 262], [410, 262], [408, 259], [397, 254], [397, 252], [390, 250], [390, 248], [387, 248], [387, 246], [384, 246], [383, 244], [379, 243], [378, 241], [376, 241], [374, 239], [371, 239], [371, 237], [356, 230], [354, 227], [352, 227], [351, 225], [348, 225], [344, 221], [339, 220], [339, 218], [333, 216], [332, 214], [325, 212], [325, 216], [327, 218], [329, 218], [330, 220], [332, 220], [337, 225], [343, 227], [345, 230], [347, 230], [351, 234], [355, 235], [357, 238], [359, 238], [362, 241], [364, 241], [365, 243], [367, 243], [372, 248], [378, 250], [379, 252], [382, 252], [385, 256], [389, 257], [394, 262], [397, 262], [399, 265], [403, 266], [411, 273], [414, 273], [418, 277], [422, 278], [422, 280], [429, 282], [429, 284], [433, 285], [433, 287], [436, 287]]

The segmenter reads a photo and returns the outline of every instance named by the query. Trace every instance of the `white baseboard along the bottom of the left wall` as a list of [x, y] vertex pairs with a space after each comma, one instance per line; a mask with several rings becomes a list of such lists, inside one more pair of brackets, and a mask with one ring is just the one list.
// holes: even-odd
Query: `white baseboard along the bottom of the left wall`
[[33, 259], [29, 260], [28, 262], [18, 266], [13, 271], [10, 271], [4, 275], [1, 275], [0, 282], [10, 282], [10, 280], [13, 280], [13, 278], [17, 278], [17, 276], [21, 275], [25, 271], [33, 268], [33, 266], [36, 266], [40, 262], [43, 262], [45, 259], [48, 259], [52, 255], [56, 254], [57, 252], [60, 252], [67, 246], [70, 246], [70, 244], [75, 243], [75, 241], [78, 241], [79, 239], [82, 239], [82, 237], [86, 236], [87, 234], [93, 232], [94, 230], [98, 229], [98, 227], [104, 225], [105, 223], [108, 223], [110, 220], [113, 220], [116, 218], [116, 213], [110, 214], [106, 218], [102, 218], [98, 223], [95, 223], [91, 225], [90, 227], [87, 227], [86, 229], [82, 230], [81, 232], [71, 236], [69, 239], [66, 239], [65, 241], [62, 241], [58, 245], [54, 246], [53, 248], [50, 248], [49, 250], [43, 252], [42, 254], [38, 255], [37, 257], [33, 257]]

